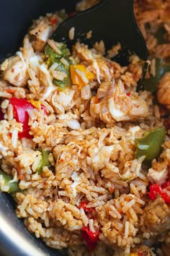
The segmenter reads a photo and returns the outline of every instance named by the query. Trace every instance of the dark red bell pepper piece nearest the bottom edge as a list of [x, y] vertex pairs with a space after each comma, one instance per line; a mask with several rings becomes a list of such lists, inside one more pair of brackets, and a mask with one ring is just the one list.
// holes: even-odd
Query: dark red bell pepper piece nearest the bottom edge
[[84, 239], [84, 241], [86, 241], [87, 247], [88, 247], [90, 252], [97, 245], [97, 242], [99, 241], [99, 234], [100, 234], [99, 231], [92, 232], [86, 226], [84, 226], [82, 228], [81, 236]]

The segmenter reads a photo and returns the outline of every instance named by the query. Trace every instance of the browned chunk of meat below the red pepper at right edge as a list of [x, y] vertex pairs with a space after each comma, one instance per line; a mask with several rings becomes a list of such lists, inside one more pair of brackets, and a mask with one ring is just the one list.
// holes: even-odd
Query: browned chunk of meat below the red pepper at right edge
[[161, 236], [169, 231], [170, 207], [161, 197], [150, 201], [143, 211], [143, 228], [151, 236]]

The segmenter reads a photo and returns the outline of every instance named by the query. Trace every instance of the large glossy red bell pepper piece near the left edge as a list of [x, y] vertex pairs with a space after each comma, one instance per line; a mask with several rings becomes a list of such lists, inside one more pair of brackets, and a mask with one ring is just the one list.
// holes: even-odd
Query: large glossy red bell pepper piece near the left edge
[[14, 118], [20, 124], [22, 124], [22, 132], [19, 132], [18, 137], [22, 139], [23, 137], [30, 139], [32, 135], [30, 135], [30, 126], [28, 124], [29, 114], [28, 110], [34, 109], [34, 106], [24, 98], [10, 98], [10, 102], [13, 106]]

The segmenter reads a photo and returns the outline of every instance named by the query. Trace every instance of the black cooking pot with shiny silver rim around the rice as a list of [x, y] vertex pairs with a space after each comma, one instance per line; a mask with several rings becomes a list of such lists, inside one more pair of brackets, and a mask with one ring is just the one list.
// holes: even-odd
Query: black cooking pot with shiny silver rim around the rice
[[[1, 0], [0, 60], [17, 51], [32, 19], [46, 12], [66, 9], [73, 12], [76, 0]], [[0, 256], [60, 256], [24, 227], [10, 195], [0, 192]]]

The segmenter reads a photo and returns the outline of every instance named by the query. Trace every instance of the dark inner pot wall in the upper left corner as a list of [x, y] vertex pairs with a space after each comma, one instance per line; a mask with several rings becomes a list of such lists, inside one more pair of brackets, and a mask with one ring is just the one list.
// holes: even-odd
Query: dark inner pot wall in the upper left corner
[[66, 9], [73, 12], [78, 0], [1, 0], [0, 6], [0, 60], [14, 53], [22, 43], [32, 19]]

